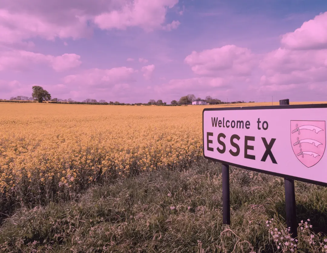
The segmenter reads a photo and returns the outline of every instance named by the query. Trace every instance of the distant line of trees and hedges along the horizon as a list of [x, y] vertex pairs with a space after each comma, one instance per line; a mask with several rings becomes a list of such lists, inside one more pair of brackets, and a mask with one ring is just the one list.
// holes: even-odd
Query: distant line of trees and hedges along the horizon
[[[10, 100], [6, 101], [16, 101], [16, 102], [31, 102], [31, 101], [38, 101], [39, 103], [42, 103], [43, 101], [47, 101], [48, 103], [55, 103], [55, 104], [92, 104], [92, 105], [158, 105], [158, 106], [181, 106], [181, 105], [191, 105], [193, 100], [200, 99], [200, 97], [196, 97], [194, 94], [187, 94], [186, 96], [182, 96], [178, 101], [172, 100], [170, 102], [170, 105], [168, 105], [166, 102], [163, 102], [161, 99], [158, 99], [157, 101], [154, 99], [150, 99], [147, 103], [120, 103], [118, 101], [110, 101], [109, 103], [106, 102], [104, 99], [101, 99], [97, 101], [96, 99], [87, 98], [83, 100], [82, 102], [74, 101], [71, 98], [68, 99], [60, 99], [60, 98], [51, 98], [50, 93], [48, 93], [46, 90], [44, 90], [41, 86], [33, 86], [32, 87], [32, 96], [16, 96], [11, 97]], [[2, 100], [2, 99], [0, 99]], [[203, 99], [210, 105], [217, 105], [217, 104], [235, 104], [235, 103], [246, 103], [245, 101], [233, 101], [233, 102], [225, 102], [221, 101], [217, 98], [212, 98], [211, 96], [206, 96], [205, 99]], [[249, 101], [249, 103], [254, 103], [254, 101]]]

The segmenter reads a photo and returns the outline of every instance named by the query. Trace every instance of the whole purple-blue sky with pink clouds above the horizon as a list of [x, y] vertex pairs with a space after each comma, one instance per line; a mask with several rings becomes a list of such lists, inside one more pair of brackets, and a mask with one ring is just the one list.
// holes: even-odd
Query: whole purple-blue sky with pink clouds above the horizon
[[1, 0], [0, 98], [327, 101], [326, 0]]

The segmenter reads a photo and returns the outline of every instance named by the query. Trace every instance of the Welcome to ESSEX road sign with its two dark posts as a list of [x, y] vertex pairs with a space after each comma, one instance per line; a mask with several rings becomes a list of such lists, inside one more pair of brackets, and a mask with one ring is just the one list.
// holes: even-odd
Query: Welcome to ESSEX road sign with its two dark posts
[[327, 104], [205, 108], [203, 155], [222, 163], [223, 223], [230, 224], [229, 165], [284, 177], [286, 223], [297, 236], [294, 180], [327, 186]]

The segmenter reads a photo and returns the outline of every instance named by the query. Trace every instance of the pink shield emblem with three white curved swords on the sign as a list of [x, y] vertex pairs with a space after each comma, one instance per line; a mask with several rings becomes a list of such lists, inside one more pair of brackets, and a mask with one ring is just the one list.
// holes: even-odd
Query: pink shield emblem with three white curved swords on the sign
[[325, 121], [291, 120], [291, 144], [297, 159], [310, 168], [325, 153]]

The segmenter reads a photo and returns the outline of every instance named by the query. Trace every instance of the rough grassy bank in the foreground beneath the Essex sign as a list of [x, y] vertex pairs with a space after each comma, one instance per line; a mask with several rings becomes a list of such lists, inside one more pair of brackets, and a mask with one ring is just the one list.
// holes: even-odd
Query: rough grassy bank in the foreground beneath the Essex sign
[[298, 221], [310, 219], [296, 242], [284, 234], [282, 178], [231, 168], [230, 181], [230, 227], [222, 225], [220, 164], [200, 159], [185, 171], [145, 172], [74, 201], [17, 210], [0, 227], [0, 251], [324, 252], [317, 233], [327, 232], [327, 188], [296, 182]]

